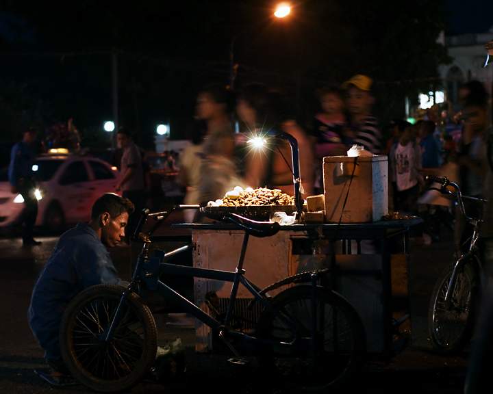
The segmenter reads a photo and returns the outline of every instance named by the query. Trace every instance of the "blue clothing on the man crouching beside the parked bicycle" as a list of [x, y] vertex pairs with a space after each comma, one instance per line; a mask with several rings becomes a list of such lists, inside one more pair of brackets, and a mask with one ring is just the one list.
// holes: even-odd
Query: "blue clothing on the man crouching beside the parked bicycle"
[[53, 248], [34, 285], [27, 312], [29, 327], [46, 358], [61, 358], [58, 334], [68, 304], [82, 290], [100, 283], [121, 285], [121, 279], [101, 239], [79, 222]]

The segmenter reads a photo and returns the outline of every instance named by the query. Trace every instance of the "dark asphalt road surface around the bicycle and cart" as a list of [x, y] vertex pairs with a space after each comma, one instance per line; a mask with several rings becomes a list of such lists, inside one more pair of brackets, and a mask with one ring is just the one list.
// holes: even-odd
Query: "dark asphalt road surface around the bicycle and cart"
[[[0, 239], [0, 393], [91, 393], [84, 386], [56, 388], [34, 374], [45, 367], [43, 351], [27, 324], [27, 308], [36, 276], [45, 265], [56, 237], [38, 237], [43, 244], [23, 248], [20, 239]], [[434, 281], [450, 263], [453, 253], [450, 231], [429, 246], [412, 246], [409, 286], [413, 342], [390, 360], [368, 361], [350, 393], [463, 393], [468, 350], [453, 358], [433, 354], [427, 339], [427, 307]], [[129, 248], [111, 250], [123, 279], [130, 276]], [[281, 393], [253, 359], [241, 368], [226, 356], [195, 354], [194, 330], [166, 324], [168, 315], [155, 314], [160, 344], [181, 338], [186, 346], [184, 376], [158, 384], [144, 380], [131, 390], [137, 393]], [[344, 390], [345, 391], [345, 390]]]

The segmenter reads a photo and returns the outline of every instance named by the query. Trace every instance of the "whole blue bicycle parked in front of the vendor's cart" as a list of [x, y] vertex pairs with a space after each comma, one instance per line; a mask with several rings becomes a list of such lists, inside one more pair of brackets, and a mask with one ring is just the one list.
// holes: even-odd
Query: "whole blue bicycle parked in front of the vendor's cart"
[[[136, 234], [147, 218], [155, 218], [156, 223], [147, 234], [140, 234], [144, 246], [126, 289], [96, 285], [79, 293], [68, 306], [60, 327], [60, 346], [66, 366], [77, 380], [94, 391], [113, 392], [129, 389], [149, 372], [157, 348], [156, 327], [151, 311], [138, 296], [139, 287], [168, 297], [210, 326], [234, 354], [231, 362], [242, 364], [245, 360], [230, 341], [254, 345], [260, 365], [290, 391], [322, 393], [337, 389], [354, 375], [366, 352], [364, 328], [347, 300], [317, 284], [326, 272], [297, 274], [263, 290], [244, 276], [249, 236], [275, 235], [280, 230], [277, 222], [257, 222], [229, 214], [223, 220], [244, 230], [236, 271], [184, 267], [166, 261], [188, 250], [190, 244], [170, 252], [155, 250], [153, 257], [148, 256], [149, 236], [175, 209], [142, 211]], [[218, 320], [170, 289], [160, 280], [160, 275], [168, 274], [233, 283], [223, 319]], [[231, 326], [236, 319], [233, 306], [240, 283], [253, 295], [251, 304], [259, 302], [263, 307], [253, 334]], [[269, 296], [268, 291], [286, 285], [290, 287]]]

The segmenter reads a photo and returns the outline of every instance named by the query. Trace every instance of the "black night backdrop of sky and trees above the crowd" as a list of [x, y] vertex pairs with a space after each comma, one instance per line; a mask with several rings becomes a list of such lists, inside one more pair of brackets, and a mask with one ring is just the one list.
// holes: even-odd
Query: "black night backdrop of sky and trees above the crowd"
[[404, 115], [404, 98], [440, 86], [449, 62], [440, 31], [488, 31], [493, 5], [459, 0], [299, 0], [272, 16], [270, 0], [0, 2], [0, 141], [25, 124], [44, 130], [73, 118], [83, 144], [108, 145], [112, 53], [118, 54], [119, 125], [153, 148], [157, 124], [188, 138], [197, 90], [262, 81], [287, 92], [306, 124], [314, 92], [356, 73], [375, 79], [382, 122]]

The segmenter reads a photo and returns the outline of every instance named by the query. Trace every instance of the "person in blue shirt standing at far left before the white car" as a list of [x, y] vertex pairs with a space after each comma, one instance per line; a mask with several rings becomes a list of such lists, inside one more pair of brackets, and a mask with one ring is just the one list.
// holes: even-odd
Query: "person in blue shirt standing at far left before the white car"
[[36, 246], [40, 241], [33, 238], [34, 224], [38, 215], [38, 198], [36, 198], [36, 182], [33, 164], [36, 160], [36, 129], [29, 127], [23, 133], [23, 140], [12, 148], [10, 154], [9, 182], [13, 194], [21, 194], [24, 209], [21, 214], [23, 228], [23, 245]]

